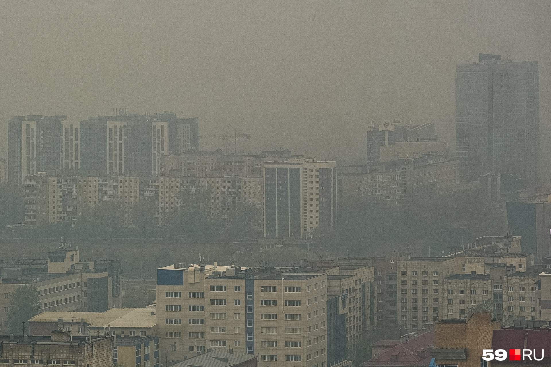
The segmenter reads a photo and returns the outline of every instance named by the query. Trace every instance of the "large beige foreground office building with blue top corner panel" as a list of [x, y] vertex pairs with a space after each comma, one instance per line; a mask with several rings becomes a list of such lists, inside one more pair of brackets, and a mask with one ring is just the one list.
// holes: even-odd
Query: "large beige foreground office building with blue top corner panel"
[[268, 366], [328, 367], [327, 276], [290, 270], [216, 263], [158, 269], [157, 319], [168, 360], [233, 347], [260, 354]]

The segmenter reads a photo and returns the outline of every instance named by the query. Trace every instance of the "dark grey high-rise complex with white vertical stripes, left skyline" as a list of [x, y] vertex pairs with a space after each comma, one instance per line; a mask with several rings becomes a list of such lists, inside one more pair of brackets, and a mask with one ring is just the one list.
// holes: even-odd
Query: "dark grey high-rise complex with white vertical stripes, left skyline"
[[[197, 150], [198, 118], [174, 113], [127, 114], [69, 121], [67, 116], [12, 116], [8, 179], [39, 172], [84, 176], [161, 176], [160, 157]], [[180, 141], [182, 139], [182, 141]]]

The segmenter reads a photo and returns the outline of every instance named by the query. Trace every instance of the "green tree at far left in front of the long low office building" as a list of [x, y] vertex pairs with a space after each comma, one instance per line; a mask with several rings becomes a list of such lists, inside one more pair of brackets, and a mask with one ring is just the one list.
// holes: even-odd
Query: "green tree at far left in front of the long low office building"
[[17, 287], [12, 293], [9, 302], [8, 323], [10, 331], [20, 333], [23, 330], [23, 322], [39, 314], [40, 300], [36, 294], [36, 287], [32, 284]]

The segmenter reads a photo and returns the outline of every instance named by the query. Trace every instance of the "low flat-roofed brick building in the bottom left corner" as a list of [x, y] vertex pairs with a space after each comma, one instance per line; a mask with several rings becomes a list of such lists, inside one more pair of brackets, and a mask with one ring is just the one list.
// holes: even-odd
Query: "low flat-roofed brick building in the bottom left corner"
[[48, 335], [2, 335], [0, 365], [111, 367], [113, 336], [71, 336], [66, 331]]

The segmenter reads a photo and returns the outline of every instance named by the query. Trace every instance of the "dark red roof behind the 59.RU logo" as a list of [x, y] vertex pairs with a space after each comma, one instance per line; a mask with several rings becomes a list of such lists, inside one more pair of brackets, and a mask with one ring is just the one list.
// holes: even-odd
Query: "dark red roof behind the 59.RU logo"
[[[525, 347], [526, 339], [526, 347]], [[551, 330], [520, 330], [501, 329], [494, 330], [491, 338], [492, 349], [536, 349], [536, 355], [541, 356], [544, 349], [543, 360], [539, 363], [551, 363]], [[498, 362], [493, 362], [498, 363]]]

